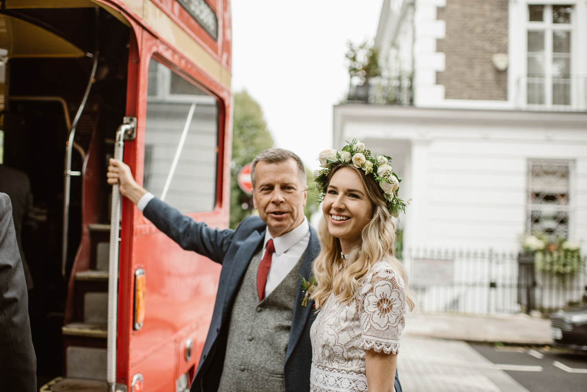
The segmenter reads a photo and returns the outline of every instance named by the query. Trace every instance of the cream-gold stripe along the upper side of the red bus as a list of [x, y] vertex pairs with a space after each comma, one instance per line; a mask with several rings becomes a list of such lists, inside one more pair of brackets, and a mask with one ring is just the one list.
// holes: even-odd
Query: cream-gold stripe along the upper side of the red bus
[[221, 85], [230, 89], [230, 72], [161, 9], [149, 0], [120, 1], [139, 15], [161, 38], [181, 50], [190, 60], [217, 79]]

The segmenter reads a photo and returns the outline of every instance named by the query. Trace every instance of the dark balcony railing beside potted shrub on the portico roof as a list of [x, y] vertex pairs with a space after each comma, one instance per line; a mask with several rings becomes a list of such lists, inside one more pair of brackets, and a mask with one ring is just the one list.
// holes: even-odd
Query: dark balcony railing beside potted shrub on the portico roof
[[383, 77], [367, 79], [362, 85], [349, 86], [347, 102], [373, 104], [412, 104], [411, 76]]

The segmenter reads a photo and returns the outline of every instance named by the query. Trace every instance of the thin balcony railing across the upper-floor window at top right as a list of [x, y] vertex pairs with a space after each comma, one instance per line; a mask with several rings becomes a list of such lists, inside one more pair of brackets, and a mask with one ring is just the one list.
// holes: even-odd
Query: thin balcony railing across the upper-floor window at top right
[[587, 76], [518, 77], [515, 104], [520, 110], [587, 111]]

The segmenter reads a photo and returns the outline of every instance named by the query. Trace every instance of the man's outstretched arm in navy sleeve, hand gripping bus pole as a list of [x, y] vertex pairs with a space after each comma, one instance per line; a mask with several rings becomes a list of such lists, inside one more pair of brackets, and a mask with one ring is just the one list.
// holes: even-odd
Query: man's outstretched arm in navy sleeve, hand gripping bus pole
[[[195, 222], [194, 219], [182, 214], [166, 202], [153, 197], [134, 181], [130, 167], [122, 161], [110, 158], [106, 175], [110, 185], [119, 184], [120, 193], [137, 207], [141, 205], [144, 216], [177, 242], [181, 248], [222, 263], [232, 241], [234, 230], [212, 229], [202, 222]], [[142, 205], [145, 201], [147, 201], [146, 205]]]

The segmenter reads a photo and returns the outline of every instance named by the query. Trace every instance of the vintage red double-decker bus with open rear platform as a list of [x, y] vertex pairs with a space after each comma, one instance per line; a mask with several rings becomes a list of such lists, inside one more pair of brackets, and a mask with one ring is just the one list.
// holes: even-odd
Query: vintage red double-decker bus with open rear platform
[[[112, 220], [119, 210], [106, 168], [121, 130], [139, 184], [228, 227], [229, 1], [3, 0], [0, 8], [2, 160], [28, 175], [36, 222], [23, 248], [39, 387], [184, 392], [220, 266], [181, 250], [126, 199], [120, 226]], [[119, 265], [109, 275], [113, 249]]]

